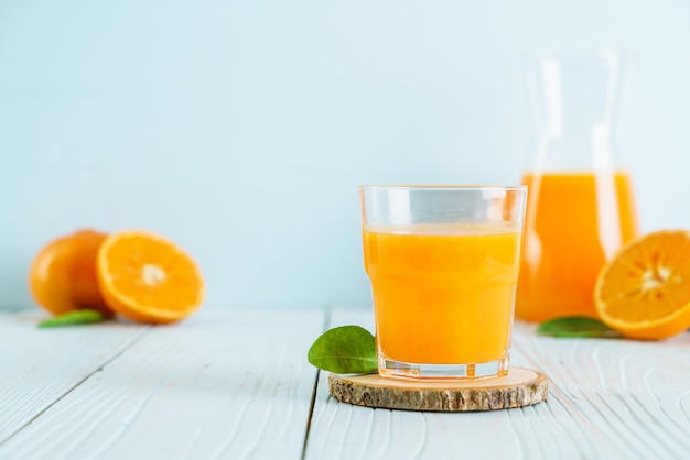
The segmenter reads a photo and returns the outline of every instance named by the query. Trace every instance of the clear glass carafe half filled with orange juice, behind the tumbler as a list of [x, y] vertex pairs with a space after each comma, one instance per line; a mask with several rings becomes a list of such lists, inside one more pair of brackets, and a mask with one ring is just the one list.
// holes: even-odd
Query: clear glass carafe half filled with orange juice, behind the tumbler
[[604, 263], [637, 236], [629, 172], [613, 131], [629, 58], [616, 50], [532, 63], [538, 145], [529, 187], [516, 316], [596, 317]]

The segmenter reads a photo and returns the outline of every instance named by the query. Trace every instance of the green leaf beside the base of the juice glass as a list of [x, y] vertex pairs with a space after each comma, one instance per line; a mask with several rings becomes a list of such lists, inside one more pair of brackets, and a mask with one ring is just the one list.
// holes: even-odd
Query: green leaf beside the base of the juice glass
[[378, 372], [376, 341], [359, 326], [342, 326], [325, 331], [309, 349], [309, 362], [337, 374]]

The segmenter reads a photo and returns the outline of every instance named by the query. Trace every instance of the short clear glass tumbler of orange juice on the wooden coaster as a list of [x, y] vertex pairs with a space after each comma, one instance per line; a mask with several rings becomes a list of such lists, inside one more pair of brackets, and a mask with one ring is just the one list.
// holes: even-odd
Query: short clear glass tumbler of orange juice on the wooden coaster
[[505, 375], [527, 187], [363, 186], [378, 370]]

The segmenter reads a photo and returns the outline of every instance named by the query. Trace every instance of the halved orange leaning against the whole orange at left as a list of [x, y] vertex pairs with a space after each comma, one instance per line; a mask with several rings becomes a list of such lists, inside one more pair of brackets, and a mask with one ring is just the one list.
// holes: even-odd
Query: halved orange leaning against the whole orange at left
[[98, 251], [98, 285], [108, 306], [141, 322], [172, 322], [196, 310], [204, 283], [194, 260], [144, 231], [110, 234]]

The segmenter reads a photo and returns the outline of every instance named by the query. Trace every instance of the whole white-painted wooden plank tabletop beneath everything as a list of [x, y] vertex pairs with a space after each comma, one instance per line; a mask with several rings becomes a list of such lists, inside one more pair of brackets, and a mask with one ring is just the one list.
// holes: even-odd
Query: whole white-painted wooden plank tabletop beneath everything
[[370, 409], [305, 359], [364, 309], [205, 309], [184, 322], [36, 329], [0, 314], [0, 459], [690, 459], [690, 332], [551, 339], [517, 324], [513, 363], [549, 401], [490, 413]]

